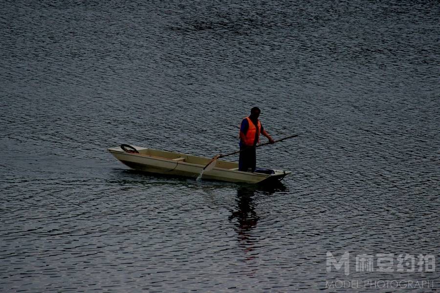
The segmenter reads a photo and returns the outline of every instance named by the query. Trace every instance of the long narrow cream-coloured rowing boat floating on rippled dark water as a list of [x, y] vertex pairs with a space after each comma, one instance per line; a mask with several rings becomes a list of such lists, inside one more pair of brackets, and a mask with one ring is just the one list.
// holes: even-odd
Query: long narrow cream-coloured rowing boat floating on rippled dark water
[[[203, 167], [211, 162], [210, 158], [139, 146], [121, 145], [111, 147], [109, 151], [116, 159], [135, 170], [194, 179], [200, 175]], [[212, 170], [202, 174], [202, 179], [255, 184], [280, 181], [290, 173], [291, 171], [270, 169], [243, 172], [238, 170], [238, 163], [217, 160]]]

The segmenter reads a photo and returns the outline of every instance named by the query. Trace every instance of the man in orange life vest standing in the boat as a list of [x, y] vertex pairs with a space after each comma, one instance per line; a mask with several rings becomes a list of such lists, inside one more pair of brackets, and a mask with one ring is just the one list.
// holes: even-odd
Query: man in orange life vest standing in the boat
[[260, 120], [258, 120], [260, 113], [258, 107], [253, 107], [249, 117], [244, 118], [240, 126], [240, 171], [255, 171], [257, 166], [255, 146], [257, 146], [260, 139], [260, 133], [267, 137], [271, 144], [274, 143], [272, 137], [264, 130]]

